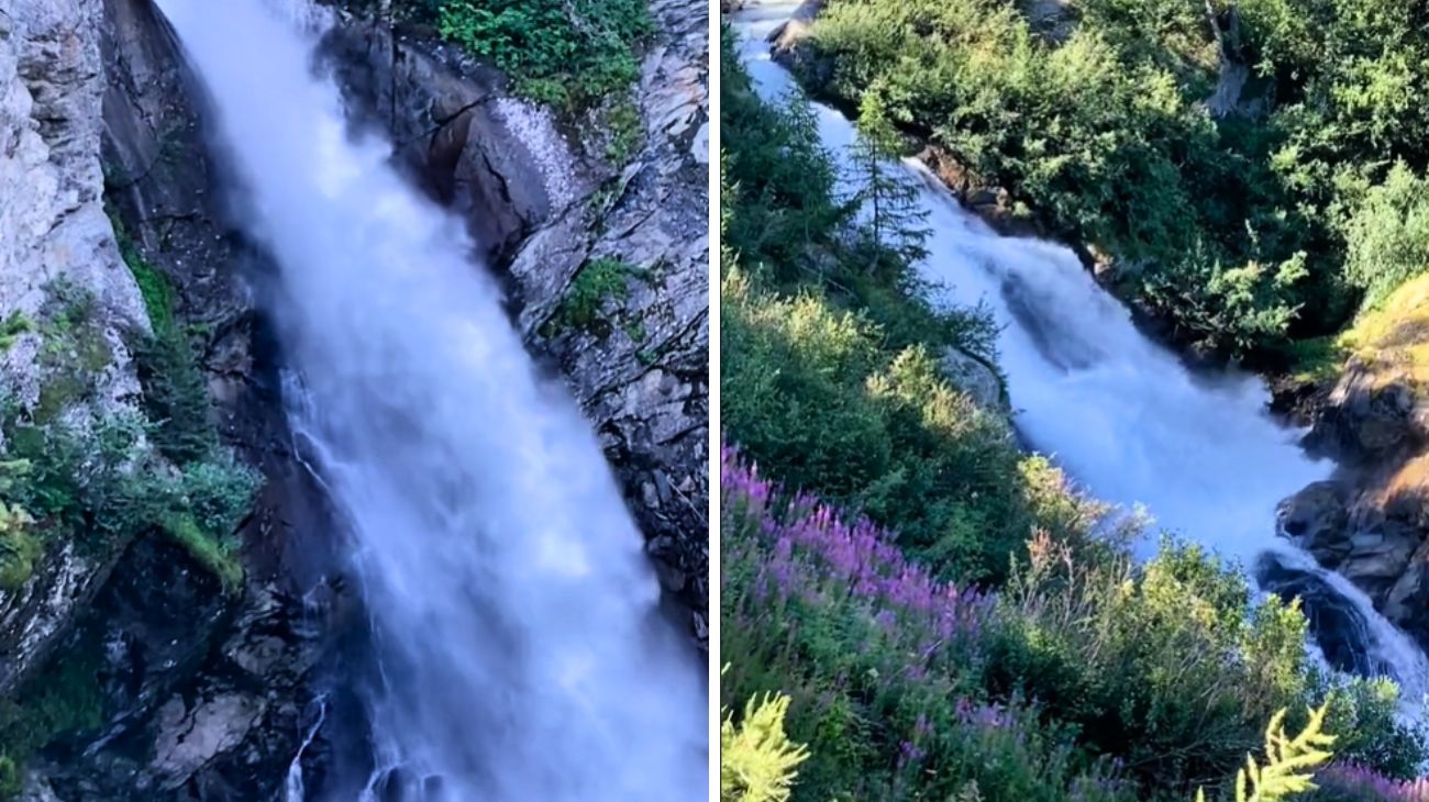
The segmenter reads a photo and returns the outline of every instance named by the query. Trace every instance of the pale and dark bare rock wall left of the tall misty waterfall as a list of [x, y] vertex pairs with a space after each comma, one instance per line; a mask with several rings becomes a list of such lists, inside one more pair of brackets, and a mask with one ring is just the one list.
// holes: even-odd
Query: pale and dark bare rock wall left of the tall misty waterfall
[[[201, 362], [220, 430], [269, 477], [243, 532], [239, 594], [160, 538], [103, 561], [56, 544], [19, 592], [0, 591], [0, 698], [27, 676], [43, 691], [53, 656], [59, 674], [83, 665], [103, 711], [97, 728], [29, 761], [23, 799], [276, 798], [306, 726], [319, 648], [294, 554], [320, 559], [312, 541], [326, 521], [283, 427], [274, 355], [240, 280], [257, 260], [221, 224], [200, 107], [149, 0], [0, 10], [0, 318], [36, 317], [57, 278], [91, 293], [113, 354], [101, 402], [134, 405], [121, 334], [150, 324], [107, 204], [177, 288], [180, 321], [210, 333]], [[31, 331], [0, 354], [7, 391], [24, 404], [46, 381], [41, 341]]]

